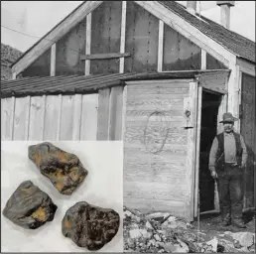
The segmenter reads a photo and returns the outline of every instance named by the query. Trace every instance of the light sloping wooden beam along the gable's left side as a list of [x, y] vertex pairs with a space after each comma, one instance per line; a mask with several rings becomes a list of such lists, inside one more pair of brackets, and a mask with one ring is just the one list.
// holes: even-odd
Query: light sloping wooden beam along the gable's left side
[[84, 2], [77, 10], [71, 13], [69, 17], [64, 19], [60, 25], [51, 31], [49, 35], [47, 35], [35, 47], [33, 47], [19, 62], [14, 64], [14, 71], [19, 74], [23, 69], [32, 64], [102, 2], [103, 1]]

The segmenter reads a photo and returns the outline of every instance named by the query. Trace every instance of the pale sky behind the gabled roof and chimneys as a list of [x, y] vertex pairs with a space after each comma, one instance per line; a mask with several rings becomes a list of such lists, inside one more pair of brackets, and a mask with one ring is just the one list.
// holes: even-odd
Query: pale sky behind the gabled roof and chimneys
[[[1, 1], [1, 43], [25, 52], [81, 2]], [[197, 10], [199, 7], [202, 16], [219, 23], [216, 1], [197, 1]], [[230, 30], [255, 42], [255, 1], [235, 1], [230, 15]]]

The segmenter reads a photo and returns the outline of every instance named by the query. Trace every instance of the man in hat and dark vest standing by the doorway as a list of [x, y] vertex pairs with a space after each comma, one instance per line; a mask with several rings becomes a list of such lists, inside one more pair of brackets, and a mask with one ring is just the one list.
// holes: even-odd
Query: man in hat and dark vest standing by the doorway
[[222, 225], [231, 224], [245, 228], [242, 220], [243, 171], [247, 150], [242, 136], [233, 130], [237, 119], [231, 113], [224, 113], [224, 131], [212, 143], [209, 154], [209, 171], [217, 181]]

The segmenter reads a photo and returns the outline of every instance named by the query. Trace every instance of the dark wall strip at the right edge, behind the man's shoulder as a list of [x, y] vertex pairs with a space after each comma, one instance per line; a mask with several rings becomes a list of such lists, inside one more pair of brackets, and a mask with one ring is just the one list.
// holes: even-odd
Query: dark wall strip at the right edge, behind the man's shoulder
[[256, 161], [255, 76], [242, 73], [241, 134], [247, 146], [248, 160], [244, 174], [244, 208], [255, 207], [254, 178]]

